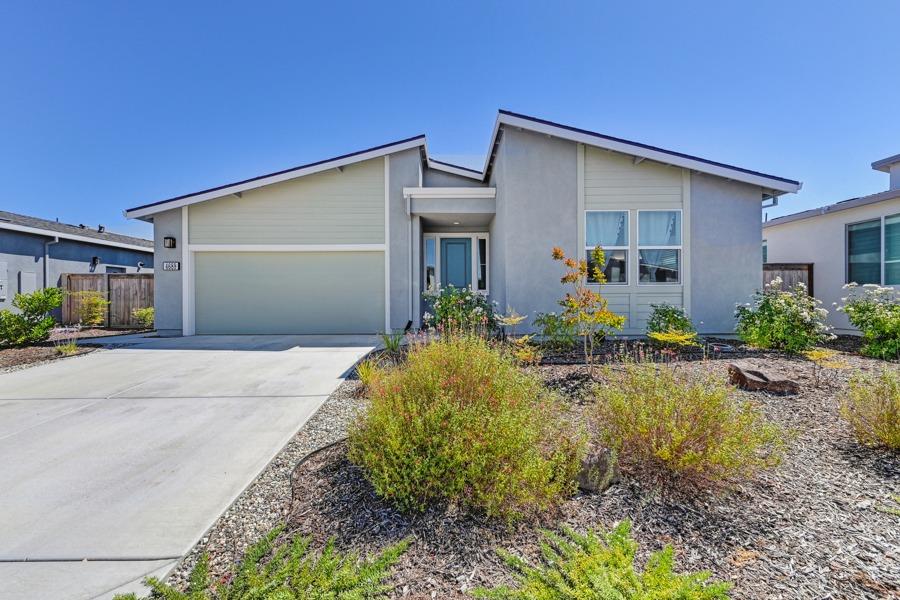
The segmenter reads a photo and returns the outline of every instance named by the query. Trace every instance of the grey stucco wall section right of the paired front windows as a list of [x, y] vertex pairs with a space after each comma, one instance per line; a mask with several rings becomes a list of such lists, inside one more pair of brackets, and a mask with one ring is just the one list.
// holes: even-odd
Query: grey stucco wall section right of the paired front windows
[[761, 199], [756, 186], [691, 174], [691, 316], [701, 333], [733, 333], [735, 304], [762, 287]]

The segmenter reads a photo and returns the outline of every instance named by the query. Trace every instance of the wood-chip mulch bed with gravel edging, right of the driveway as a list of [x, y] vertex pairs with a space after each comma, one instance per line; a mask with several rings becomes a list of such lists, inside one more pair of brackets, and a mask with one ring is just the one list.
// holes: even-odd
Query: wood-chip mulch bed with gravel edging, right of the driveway
[[[724, 378], [727, 359], [753, 356], [801, 385], [796, 396], [742, 392], [792, 438], [781, 466], [725, 495], [666, 498], [626, 479], [602, 494], [578, 493], [555, 514], [514, 526], [453, 506], [400, 513], [378, 499], [347, 460], [343, 442], [294, 468], [305, 452], [344, 435], [352, 413], [364, 406], [358, 382], [347, 381], [171, 580], [183, 584], [204, 551], [213, 574], [226, 574], [248, 543], [286, 519], [285, 537], [310, 535], [318, 544], [335, 538], [339, 548], [362, 554], [412, 537], [390, 580], [393, 596], [461, 598], [473, 587], [512, 582], [497, 548], [536, 558], [541, 528], [609, 528], [629, 518], [641, 544], [639, 560], [671, 544], [678, 569], [712, 571], [734, 584], [735, 598], [900, 598], [900, 517], [883, 510], [897, 507], [891, 496], [900, 494], [900, 455], [860, 446], [838, 414], [838, 396], [853, 369], [874, 371], [885, 363], [842, 354], [848, 368], [822, 370], [802, 358], [725, 343], [734, 346], [721, 357], [726, 360], [685, 356], [673, 368]], [[857, 346], [854, 340], [834, 344]], [[575, 418], [589, 412], [595, 383], [584, 366], [554, 355], [546, 362], [533, 370], [570, 400]]]

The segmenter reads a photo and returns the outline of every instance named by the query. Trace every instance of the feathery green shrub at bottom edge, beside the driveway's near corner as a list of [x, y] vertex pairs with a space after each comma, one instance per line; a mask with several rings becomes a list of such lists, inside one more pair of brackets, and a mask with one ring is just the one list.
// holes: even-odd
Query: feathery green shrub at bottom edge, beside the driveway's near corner
[[[244, 560], [227, 582], [214, 582], [209, 576], [206, 555], [197, 561], [185, 592], [174, 589], [154, 577], [145, 581], [150, 599], [165, 600], [326, 600], [384, 598], [390, 587], [384, 585], [391, 566], [406, 548], [400, 542], [368, 560], [349, 554], [342, 556], [329, 542], [316, 557], [309, 551], [309, 540], [294, 538], [275, 549], [275, 529], [247, 549]], [[118, 595], [113, 600], [137, 600], [135, 594]]]

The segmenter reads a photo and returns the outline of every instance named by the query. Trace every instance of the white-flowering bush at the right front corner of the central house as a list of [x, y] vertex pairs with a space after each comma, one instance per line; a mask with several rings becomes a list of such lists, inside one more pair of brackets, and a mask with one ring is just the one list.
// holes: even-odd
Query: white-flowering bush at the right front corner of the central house
[[737, 333], [757, 348], [790, 353], [807, 350], [834, 337], [828, 333], [828, 311], [821, 304], [806, 293], [803, 283], [783, 291], [781, 279], [776, 278], [754, 294], [752, 304], [737, 307]]

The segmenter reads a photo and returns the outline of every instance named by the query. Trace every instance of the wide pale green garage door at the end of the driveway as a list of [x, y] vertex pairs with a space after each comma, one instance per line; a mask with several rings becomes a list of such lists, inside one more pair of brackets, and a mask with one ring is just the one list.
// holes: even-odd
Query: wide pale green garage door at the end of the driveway
[[382, 252], [198, 252], [197, 334], [378, 333]]

